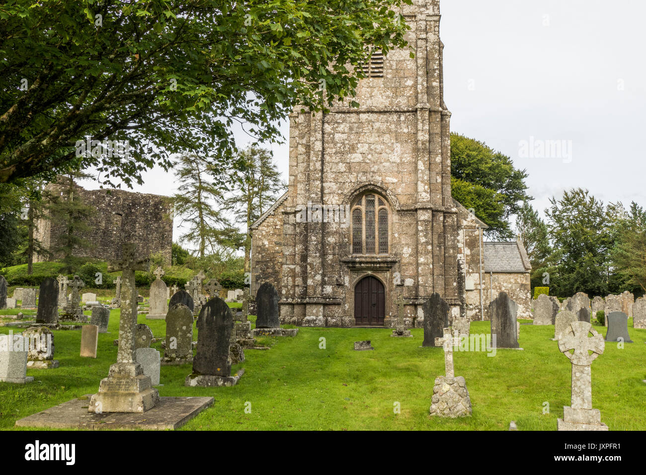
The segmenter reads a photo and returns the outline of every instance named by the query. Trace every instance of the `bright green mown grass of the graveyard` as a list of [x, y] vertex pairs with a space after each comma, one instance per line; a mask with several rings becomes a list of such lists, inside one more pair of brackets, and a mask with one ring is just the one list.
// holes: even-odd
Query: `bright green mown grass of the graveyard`
[[[0, 311], [3, 313], [4, 311]], [[109, 332], [99, 334], [97, 359], [79, 357], [81, 332], [56, 331], [54, 370], [27, 370], [27, 385], [0, 383], [0, 428], [16, 429], [16, 419], [84, 394], [94, 394], [116, 361], [119, 310], [112, 310]], [[253, 318], [252, 318], [253, 321]], [[163, 337], [165, 321], [139, 322]], [[605, 335], [605, 328], [594, 326]], [[10, 327], [1, 327], [8, 333]], [[472, 333], [488, 333], [489, 322], [474, 322]], [[635, 330], [634, 343], [620, 350], [607, 343], [592, 364], [593, 406], [610, 430], [646, 430], [643, 394], [646, 385], [646, 330]], [[414, 338], [391, 338], [391, 330], [300, 328], [297, 337], [264, 338], [270, 350], [245, 350], [247, 361], [238, 385], [231, 388], [183, 386], [191, 365], [162, 366], [161, 396], [213, 396], [211, 408], [181, 430], [556, 430], [563, 406], [570, 404], [571, 365], [550, 341], [554, 326], [521, 326], [524, 351], [455, 352], [455, 374], [464, 376], [473, 416], [439, 419], [428, 416], [435, 377], [444, 375], [441, 348], [419, 348]], [[196, 338], [197, 332], [194, 332]], [[319, 348], [324, 337], [326, 348]], [[355, 341], [369, 339], [375, 351], [355, 352]], [[160, 344], [153, 344], [163, 353]], [[251, 403], [251, 413], [245, 413]], [[395, 414], [395, 403], [401, 414]], [[549, 403], [549, 414], [543, 414]], [[247, 404], [247, 407], [249, 405]], [[28, 430], [28, 429], [26, 429]]]

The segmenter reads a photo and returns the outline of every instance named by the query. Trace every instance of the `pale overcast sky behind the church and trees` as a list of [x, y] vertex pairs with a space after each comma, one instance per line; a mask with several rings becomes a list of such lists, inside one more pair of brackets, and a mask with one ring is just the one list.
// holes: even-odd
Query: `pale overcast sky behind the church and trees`
[[[541, 215], [571, 187], [646, 206], [646, 1], [443, 0], [441, 13], [451, 129], [526, 169]], [[548, 141], [557, 156], [541, 153]], [[271, 148], [287, 181], [287, 146]], [[143, 179], [134, 191], [176, 191], [160, 169]]]

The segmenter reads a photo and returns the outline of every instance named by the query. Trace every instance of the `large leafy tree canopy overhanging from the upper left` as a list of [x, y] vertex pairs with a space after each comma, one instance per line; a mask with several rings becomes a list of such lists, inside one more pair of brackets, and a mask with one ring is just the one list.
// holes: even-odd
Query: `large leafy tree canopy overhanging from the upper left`
[[[80, 159], [141, 183], [170, 154], [280, 137], [296, 105], [351, 100], [371, 46], [404, 47], [410, 0], [12, 0], [0, 5], [0, 183]], [[127, 140], [128, 154], [78, 140]]]

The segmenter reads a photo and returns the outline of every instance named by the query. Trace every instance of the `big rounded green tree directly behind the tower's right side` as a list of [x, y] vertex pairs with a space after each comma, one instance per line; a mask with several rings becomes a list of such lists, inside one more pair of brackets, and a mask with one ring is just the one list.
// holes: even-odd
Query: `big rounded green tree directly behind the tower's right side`
[[526, 193], [525, 170], [514, 168], [512, 159], [483, 142], [451, 134], [451, 185], [453, 198], [489, 228], [491, 238], [508, 239], [514, 233], [510, 218], [522, 203], [532, 200]]

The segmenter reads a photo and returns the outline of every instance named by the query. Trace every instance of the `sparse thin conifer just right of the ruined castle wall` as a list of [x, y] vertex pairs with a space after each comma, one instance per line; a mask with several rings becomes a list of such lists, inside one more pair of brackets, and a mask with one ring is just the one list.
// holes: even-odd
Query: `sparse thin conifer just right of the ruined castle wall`
[[196, 246], [200, 258], [231, 246], [230, 234], [236, 231], [231, 231], [231, 223], [222, 212], [227, 189], [224, 172], [214, 167], [210, 158], [192, 152], [182, 154], [174, 169], [180, 185], [174, 195], [175, 212], [182, 216], [180, 226], [187, 227], [180, 242]]

